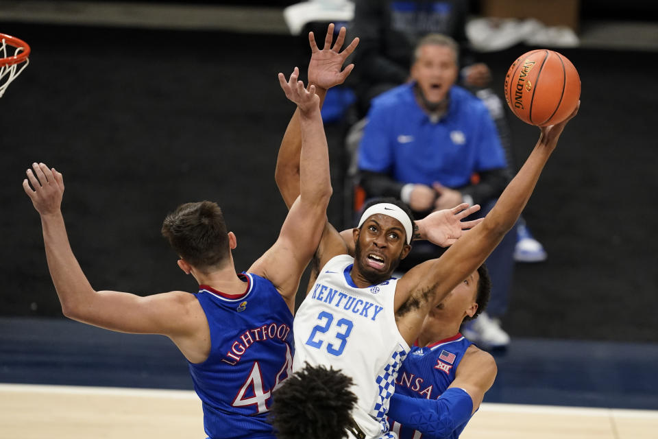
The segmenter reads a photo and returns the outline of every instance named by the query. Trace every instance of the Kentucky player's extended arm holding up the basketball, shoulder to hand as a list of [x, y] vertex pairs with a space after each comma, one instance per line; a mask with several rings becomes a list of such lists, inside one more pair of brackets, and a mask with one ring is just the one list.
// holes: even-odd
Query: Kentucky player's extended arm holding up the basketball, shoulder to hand
[[457, 239], [439, 259], [417, 265], [398, 281], [395, 309], [400, 309], [406, 300], [414, 298], [424, 311], [398, 316], [398, 319], [404, 320], [404, 324], [400, 324], [398, 320], [398, 327], [401, 328], [401, 333], [405, 332], [402, 335], [406, 340], [413, 341], [426, 311], [441, 302], [446, 294], [476, 270], [512, 228], [533, 193], [539, 175], [555, 150], [566, 123], [577, 112], [578, 107], [565, 121], [541, 128], [539, 140], [526, 163], [509, 182], [483, 222]]

